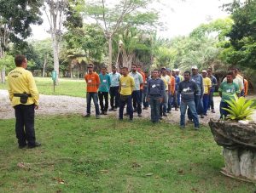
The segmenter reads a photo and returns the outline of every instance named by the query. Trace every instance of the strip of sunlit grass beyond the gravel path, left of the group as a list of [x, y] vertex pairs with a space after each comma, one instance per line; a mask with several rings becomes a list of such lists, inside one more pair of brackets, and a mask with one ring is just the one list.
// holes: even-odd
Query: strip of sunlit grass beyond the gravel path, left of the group
[[[39, 94], [48, 95], [67, 95], [84, 97], [85, 96], [85, 81], [84, 79], [70, 79], [60, 78], [59, 85], [55, 86], [55, 92], [53, 88], [53, 81], [50, 77], [36, 77], [35, 78]], [[1, 84], [0, 89], [7, 89], [7, 83]]]

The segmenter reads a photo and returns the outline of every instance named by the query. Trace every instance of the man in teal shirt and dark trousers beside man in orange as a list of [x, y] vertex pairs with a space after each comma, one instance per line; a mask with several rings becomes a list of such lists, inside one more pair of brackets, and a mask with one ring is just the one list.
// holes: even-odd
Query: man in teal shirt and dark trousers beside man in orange
[[[109, 92], [109, 88], [110, 88], [110, 84], [111, 84], [110, 77], [106, 72], [107, 72], [107, 68], [106, 68], [106, 66], [103, 66], [102, 73], [100, 73], [100, 75], [99, 75], [101, 84], [100, 84], [99, 91], [98, 91], [102, 115], [107, 115], [108, 92]], [[105, 104], [103, 103], [103, 98], [105, 99]]]

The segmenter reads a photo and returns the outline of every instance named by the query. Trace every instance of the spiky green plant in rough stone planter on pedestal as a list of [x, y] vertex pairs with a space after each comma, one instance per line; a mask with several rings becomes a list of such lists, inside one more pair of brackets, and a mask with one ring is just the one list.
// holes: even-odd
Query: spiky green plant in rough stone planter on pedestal
[[256, 182], [256, 124], [251, 119], [256, 105], [244, 97], [226, 102], [229, 108], [224, 110], [230, 115], [209, 122], [214, 140], [224, 147], [225, 167], [221, 173]]

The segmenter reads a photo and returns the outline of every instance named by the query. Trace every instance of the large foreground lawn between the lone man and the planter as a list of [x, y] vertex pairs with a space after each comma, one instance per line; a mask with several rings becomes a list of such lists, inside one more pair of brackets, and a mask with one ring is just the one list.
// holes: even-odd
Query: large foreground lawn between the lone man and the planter
[[120, 124], [111, 117], [41, 116], [36, 134], [42, 147], [20, 150], [14, 127], [15, 120], [0, 120], [0, 192], [255, 190], [254, 184], [219, 173], [222, 149], [209, 128], [181, 131], [148, 120]]

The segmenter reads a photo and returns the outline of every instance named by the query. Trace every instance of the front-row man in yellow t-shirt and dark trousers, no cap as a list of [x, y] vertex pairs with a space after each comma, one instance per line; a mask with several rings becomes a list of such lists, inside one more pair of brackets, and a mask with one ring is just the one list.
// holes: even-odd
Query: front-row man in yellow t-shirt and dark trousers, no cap
[[119, 120], [123, 120], [124, 108], [127, 103], [127, 112], [130, 116], [130, 121], [133, 119], [133, 109], [131, 102], [131, 93], [135, 87], [135, 82], [133, 77], [128, 75], [128, 68], [122, 68], [122, 76], [119, 79], [119, 94], [120, 94], [120, 104], [119, 104]]

